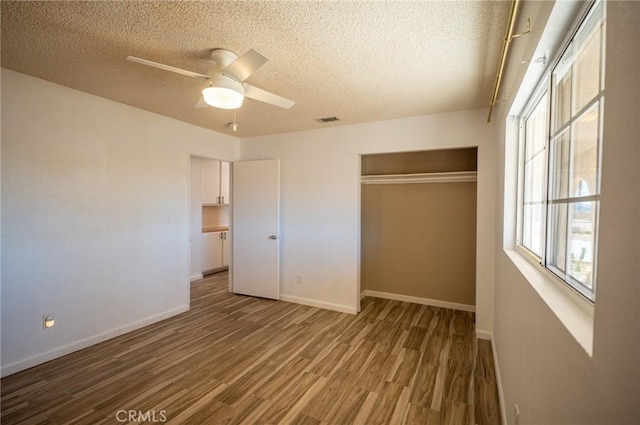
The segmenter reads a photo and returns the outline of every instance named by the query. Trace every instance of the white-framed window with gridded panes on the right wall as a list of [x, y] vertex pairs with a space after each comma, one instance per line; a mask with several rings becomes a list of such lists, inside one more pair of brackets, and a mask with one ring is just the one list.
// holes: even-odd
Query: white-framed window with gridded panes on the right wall
[[604, 5], [596, 2], [521, 119], [518, 246], [595, 301], [604, 108]]

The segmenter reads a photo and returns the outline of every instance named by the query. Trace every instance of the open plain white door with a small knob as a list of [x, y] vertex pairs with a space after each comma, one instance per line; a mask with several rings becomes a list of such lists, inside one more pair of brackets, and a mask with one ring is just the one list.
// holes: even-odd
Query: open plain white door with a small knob
[[280, 161], [239, 161], [232, 169], [233, 292], [278, 299]]

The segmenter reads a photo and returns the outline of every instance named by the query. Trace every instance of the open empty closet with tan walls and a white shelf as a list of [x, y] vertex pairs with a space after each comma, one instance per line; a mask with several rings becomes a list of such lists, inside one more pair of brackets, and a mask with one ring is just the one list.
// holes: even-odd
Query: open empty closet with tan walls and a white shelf
[[477, 148], [361, 156], [361, 295], [475, 311]]

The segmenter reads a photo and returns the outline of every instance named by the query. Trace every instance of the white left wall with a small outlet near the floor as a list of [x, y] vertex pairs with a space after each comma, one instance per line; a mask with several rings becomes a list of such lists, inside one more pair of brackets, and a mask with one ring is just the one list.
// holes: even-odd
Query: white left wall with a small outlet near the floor
[[238, 153], [235, 138], [3, 69], [2, 373], [186, 310], [189, 154]]

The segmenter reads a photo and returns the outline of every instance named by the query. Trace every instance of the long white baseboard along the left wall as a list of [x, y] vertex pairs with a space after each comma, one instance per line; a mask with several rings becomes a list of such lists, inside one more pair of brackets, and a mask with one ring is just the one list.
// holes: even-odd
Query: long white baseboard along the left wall
[[139, 320], [134, 323], [130, 323], [128, 325], [112, 329], [101, 334], [91, 336], [88, 338], [81, 339], [76, 342], [72, 342], [71, 344], [63, 345], [62, 347], [54, 348], [53, 350], [47, 351], [46, 353], [38, 354], [24, 360], [19, 360], [17, 362], [13, 362], [6, 366], [2, 366], [0, 370], [0, 376], [3, 378], [5, 376], [20, 372], [21, 370], [29, 369], [30, 367], [37, 366], [41, 363], [48, 362], [49, 360], [57, 359], [58, 357], [65, 356], [67, 354], [73, 353], [78, 350], [82, 350], [83, 348], [90, 347], [92, 345], [98, 344], [100, 342], [106, 341], [111, 338], [115, 338], [127, 332], [131, 332], [136, 329], [143, 328], [152, 323], [159, 322], [164, 319], [168, 319], [169, 317], [175, 316], [180, 313], [184, 313], [189, 310], [189, 305], [184, 305], [173, 310], [165, 311], [160, 314], [156, 314], [151, 317], [147, 317], [145, 319]]

